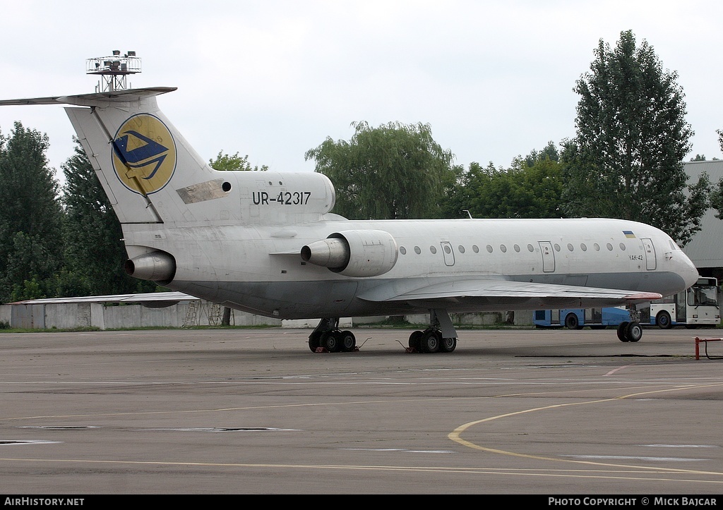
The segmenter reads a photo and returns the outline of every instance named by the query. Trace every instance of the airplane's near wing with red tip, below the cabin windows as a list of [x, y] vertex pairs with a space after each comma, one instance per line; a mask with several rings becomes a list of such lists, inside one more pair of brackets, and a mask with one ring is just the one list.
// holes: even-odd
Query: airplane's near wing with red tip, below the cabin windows
[[523, 306], [526, 309], [620, 306], [652, 301], [662, 298], [662, 295], [552, 283], [476, 279], [435, 282], [406, 290], [395, 288], [394, 284], [385, 284], [362, 293], [359, 298], [366, 301], [406, 301], [421, 307], [484, 310], [495, 305], [502, 309], [505, 306]]

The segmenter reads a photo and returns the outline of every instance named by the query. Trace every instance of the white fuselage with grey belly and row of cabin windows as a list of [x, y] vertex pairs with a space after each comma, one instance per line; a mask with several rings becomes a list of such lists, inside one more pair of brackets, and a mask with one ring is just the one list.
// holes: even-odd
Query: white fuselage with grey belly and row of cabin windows
[[[335, 218], [298, 225], [168, 228], [162, 229], [162, 241], [157, 226], [145, 231], [126, 227], [126, 242], [174, 255], [176, 274], [168, 288], [281, 319], [418, 313], [429, 303], [386, 300], [446, 280], [513, 280], [669, 295], [698, 277], [668, 235], [638, 222]], [[390, 233], [397, 245], [395, 264], [382, 275], [347, 277], [299, 256], [301, 246], [331, 233], [372, 229]], [[440, 303], [449, 312], [540, 306], [544, 301], [539, 298]]]

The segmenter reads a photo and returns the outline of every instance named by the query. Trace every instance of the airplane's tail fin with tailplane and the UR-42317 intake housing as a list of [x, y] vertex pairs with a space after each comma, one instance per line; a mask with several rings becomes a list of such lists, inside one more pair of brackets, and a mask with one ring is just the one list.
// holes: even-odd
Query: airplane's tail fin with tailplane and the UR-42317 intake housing
[[0, 100], [0, 105], [72, 105], [66, 112], [123, 225], [283, 225], [319, 220], [331, 210], [334, 187], [320, 173], [210, 168], [158, 109], [156, 96], [173, 90], [114, 90]]

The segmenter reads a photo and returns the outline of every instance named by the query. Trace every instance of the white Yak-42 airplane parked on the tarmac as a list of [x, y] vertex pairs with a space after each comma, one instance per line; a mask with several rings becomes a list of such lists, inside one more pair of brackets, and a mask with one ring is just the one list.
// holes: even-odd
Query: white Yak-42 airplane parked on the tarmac
[[450, 314], [636, 305], [693, 285], [675, 241], [606, 218], [348, 220], [314, 172], [217, 171], [158, 108], [175, 87], [4, 100], [65, 104], [123, 230], [129, 275], [278, 319], [320, 319], [312, 352], [358, 350], [347, 316], [429, 313], [409, 352], [450, 353]]

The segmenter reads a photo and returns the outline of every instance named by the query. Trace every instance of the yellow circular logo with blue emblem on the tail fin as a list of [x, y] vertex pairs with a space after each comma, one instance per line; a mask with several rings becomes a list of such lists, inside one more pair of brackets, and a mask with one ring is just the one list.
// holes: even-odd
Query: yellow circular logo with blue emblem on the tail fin
[[166, 186], [176, 170], [176, 142], [160, 118], [138, 113], [113, 138], [113, 169], [134, 193], [148, 195]]

